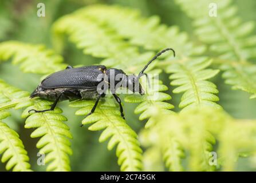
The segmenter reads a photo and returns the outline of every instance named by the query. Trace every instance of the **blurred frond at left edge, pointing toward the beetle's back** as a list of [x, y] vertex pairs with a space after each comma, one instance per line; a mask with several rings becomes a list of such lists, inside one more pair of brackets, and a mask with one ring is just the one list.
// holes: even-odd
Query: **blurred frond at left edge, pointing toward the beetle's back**
[[[18, 41], [0, 43], [0, 61], [13, 57], [13, 63], [19, 64], [25, 73], [49, 74], [65, 69], [62, 57], [43, 45], [31, 45]], [[42, 69], [43, 68], [43, 69]]]

